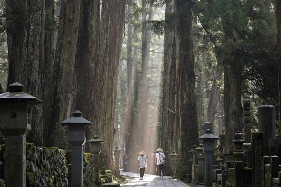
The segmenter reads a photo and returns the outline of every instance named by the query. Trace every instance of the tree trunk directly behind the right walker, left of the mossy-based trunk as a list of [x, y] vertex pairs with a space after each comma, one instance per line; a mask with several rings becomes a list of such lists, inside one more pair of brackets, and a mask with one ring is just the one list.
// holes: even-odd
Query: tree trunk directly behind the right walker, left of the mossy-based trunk
[[[166, 2], [166, 15], [172, 13], [173, 1]], [[163, 74], [163, 99], [162, 99], [162, 139], [161, 147], [167, 147], [168, 153], [175, 151], [175, 135], [174, 135], [174, 123], [175, 114], [170, 110], [175, 111], [175, 97], [176, 97], [176, 58], [175, 58], [175, 37], [173, 24], [166, 22], [165, 29], [165, 42], [164, 42], [164, 74]], [[177, 142], [176, 142], [177, 144]], [[166, 157], [165, 175], [173, 175], [171, 157]]]

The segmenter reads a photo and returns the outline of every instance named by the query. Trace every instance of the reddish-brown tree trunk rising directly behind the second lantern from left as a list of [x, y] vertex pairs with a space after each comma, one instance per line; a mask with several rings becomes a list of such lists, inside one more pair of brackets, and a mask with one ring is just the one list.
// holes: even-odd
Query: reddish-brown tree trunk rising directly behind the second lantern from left
[[[71, 113], [79, 110], [83, 118], [94, 123], [97, 104], [99, 66], [100, 0], [82, 0], [71, 95]], [[86, 140], [95, 135], [93, 126], [87, 127]], [[85, 152], [90, 144], [85, 143]]]

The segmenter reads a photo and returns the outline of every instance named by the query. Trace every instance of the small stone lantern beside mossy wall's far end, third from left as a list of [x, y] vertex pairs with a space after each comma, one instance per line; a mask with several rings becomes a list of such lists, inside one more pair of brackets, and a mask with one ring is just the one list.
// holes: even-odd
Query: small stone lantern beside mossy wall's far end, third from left
[[[100, 140], [97, 135], [94, 136], [92, 140], [88, 140], [87, 142], [90, 143], [90, 153], [93, 156], [93, 166], [94, 171], [100, 171], [100, 152], [101, 152], [101, 143], [104, 143], [103, 140]], [[100, 180], [100, 172], [95, 172], [96, 174], [96, 181]]]

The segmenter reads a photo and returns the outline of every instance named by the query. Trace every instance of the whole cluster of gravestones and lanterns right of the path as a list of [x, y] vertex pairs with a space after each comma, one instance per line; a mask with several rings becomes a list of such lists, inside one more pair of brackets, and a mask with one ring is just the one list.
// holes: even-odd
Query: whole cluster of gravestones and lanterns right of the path
[[[249, 98], [245, 100], [244, 122], [249, 123]], [[281, 139], [275, 138], [275, 107], [258, 107], [258, 132], [250, 133], [248, 125], [244, 127], [244, 134], [231, 126], [229, 131], [234, 129], [236, 132], [231, 135], [232, 144], [225, 145], [225, 134], [219, 137], [210, 134], [212, 125], [204, 123], [204, 130], [208, 129], [199, 137], [203, 139], [203, 145], [200, 144], [197, 153], [192, 155], [191, 182], [205, 183], [206, 187], [213, 183], [216, 187], [280, 187]], [[217, 155], [213, 150], [213, 157], [206, 156], [214, 138], [220, 138]]]

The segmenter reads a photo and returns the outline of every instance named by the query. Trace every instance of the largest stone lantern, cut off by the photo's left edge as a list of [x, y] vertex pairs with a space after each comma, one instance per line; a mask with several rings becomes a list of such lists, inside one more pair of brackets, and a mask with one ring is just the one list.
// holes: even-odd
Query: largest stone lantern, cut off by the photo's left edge
[[0, 130], [6, 136], [5, 185], [26, 186], [26, 135], [31, 130], [32, 105], [42, 101], [25, 93], [19, 83], [9, 85], [9, 92], [0, 94]]

